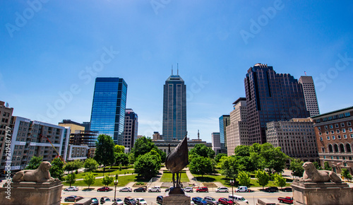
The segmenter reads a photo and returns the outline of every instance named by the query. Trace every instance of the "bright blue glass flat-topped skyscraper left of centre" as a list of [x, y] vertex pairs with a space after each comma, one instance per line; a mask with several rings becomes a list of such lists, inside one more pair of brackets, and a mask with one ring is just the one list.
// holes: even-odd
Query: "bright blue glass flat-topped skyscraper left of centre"
[[124, 138], [127, 87], [123, 78], [95, 78], [90, 129], [112, 136], [119, 145]]

